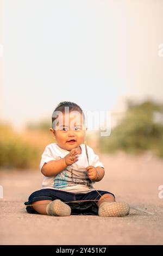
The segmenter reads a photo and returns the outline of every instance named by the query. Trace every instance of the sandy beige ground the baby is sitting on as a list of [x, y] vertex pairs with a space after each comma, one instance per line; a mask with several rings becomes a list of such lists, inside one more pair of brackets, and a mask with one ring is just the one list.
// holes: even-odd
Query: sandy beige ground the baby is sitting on
[[105, 176], [96, 189], [107, 190], [148, 215], [130, 210], [125, 217], [53, 217], [27, 214], [22, 207], [30, 193], [41, 188], [39, 170], [2, 170], [4, 197], [0, 199], [1, 245], [162, 245], [163, 160], [150, 154], [102, 155]]

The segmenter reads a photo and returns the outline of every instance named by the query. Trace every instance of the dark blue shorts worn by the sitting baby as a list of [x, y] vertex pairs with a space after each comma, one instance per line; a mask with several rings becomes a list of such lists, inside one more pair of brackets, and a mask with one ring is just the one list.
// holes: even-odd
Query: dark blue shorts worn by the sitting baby
[[[108, 191], [98, 190], [98, 192], [103, 196], [103, 194], [114, 194]], [[51, 188], [44, 188], [33, 192], [28, 199], [28, 202], [24, 204], [27, 205], [26, 210], [29, 214], [38, 214], [32, 207], [28, 206], [33, 202], [40, 200], [55, 200], [60, 199], [62, 202], [72, 202], [72, 201], [81, 201], [81, 200], [99, 200], [101, 196], [98, 192], [91, 191], [88, 193], [71, 193], [67, 191], [54, 190]], [[115, 196], [114, 196], [115, 198]], [[98, 201], [89, 201], [89, 202], [75, 202], [67, 203], [71, 207], [71, 215], [98, 215]]]

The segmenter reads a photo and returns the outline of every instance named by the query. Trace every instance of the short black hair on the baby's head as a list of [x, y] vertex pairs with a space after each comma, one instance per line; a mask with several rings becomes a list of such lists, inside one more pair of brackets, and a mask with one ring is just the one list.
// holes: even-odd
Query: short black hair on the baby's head
[[[72, 111], [78, 111], [79, 113], [82, 114], [83, 116], [83, 122], [85, 121], [85, 115], [84, 115], [84, 112], [82, 110], [82, 108], [80, 108], [79, 105], [77, 105], [76, 103], [74, 102], [70, 102], [70, 101], [62, 101], [60, 102], [57, 107], [54, 109], [53, 113], [55, 111], [61, 111], [63, 114], [65, 113], [65, 107], [68, 107], [69, 109], [69, 112], [72, 112]], [[52, 114], [52, 128], [53, 128], [53, 122], [54, 120], [56, 119], [57, 117], [53, 117], [53, 114]]]

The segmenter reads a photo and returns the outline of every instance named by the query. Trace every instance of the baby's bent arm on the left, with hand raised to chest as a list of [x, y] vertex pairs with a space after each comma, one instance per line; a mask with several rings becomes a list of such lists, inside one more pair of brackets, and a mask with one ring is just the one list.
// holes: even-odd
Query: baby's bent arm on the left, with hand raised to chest
[[78, 161], [78, 149], [72, 149], [69, 154], [60, 160], [52, 160], [44, 163], [41, 172], [45, 176], [54, 176], [64, 170], [67, 166]]

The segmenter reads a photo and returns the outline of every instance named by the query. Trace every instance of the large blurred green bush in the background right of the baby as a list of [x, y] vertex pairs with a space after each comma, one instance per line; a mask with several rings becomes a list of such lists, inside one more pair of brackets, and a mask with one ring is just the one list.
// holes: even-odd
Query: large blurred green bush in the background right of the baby
[[[155, 113], [160, 114], [159, 120], [154, 120]], [[126, 113], [111, 135], [99, 138], [99, 147], [104, 153], [122, 150], [136, 154], [150, 150], [163, 157], [162, 117], [163, 105], [151, 101], [141, 104], [128, 102]]]

